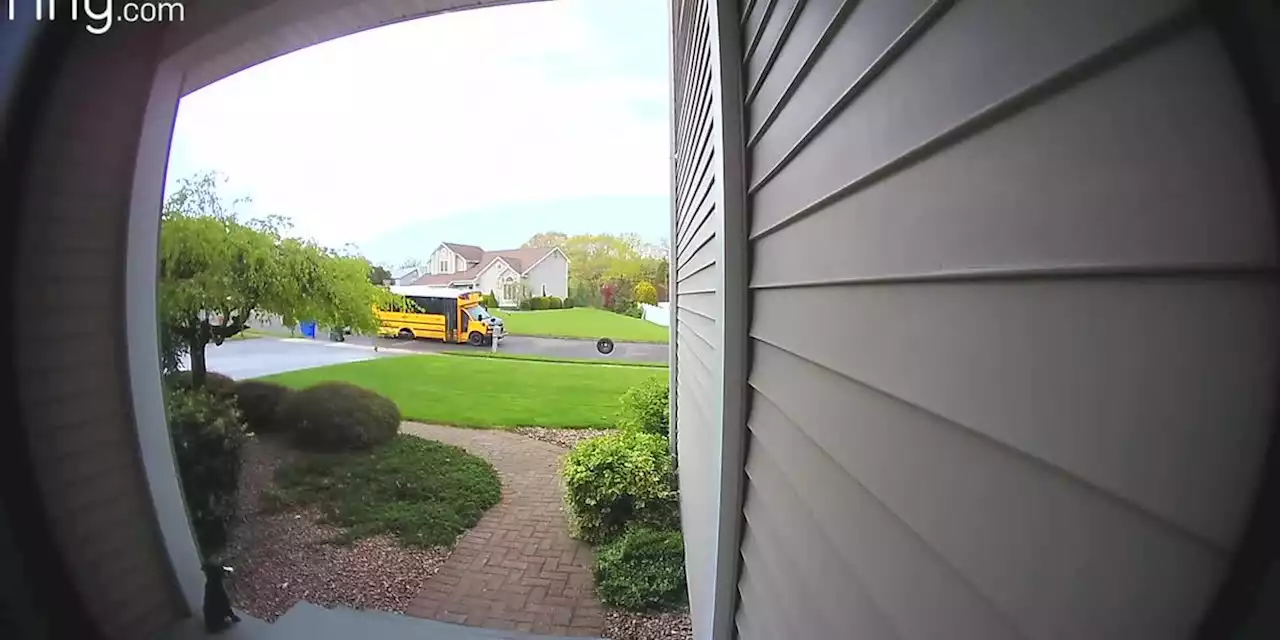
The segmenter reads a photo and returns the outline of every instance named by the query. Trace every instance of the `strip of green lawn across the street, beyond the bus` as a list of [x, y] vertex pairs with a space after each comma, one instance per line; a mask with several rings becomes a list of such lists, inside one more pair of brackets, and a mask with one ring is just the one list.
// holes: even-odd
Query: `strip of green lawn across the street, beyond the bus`
[[494, 311], [512, 335], [550, 338], [612, 338], [614, 342], [666, 343], [669, 330], [648, 320], [628, 317], [599, 308], [556, 308], [547, 311]]

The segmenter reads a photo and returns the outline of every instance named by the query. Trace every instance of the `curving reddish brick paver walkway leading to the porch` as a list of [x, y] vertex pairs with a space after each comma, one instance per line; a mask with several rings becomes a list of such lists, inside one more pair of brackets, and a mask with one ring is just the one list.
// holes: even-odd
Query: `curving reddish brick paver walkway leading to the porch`
[[494, 429], [404, 422], [401, 431], [488, 460], [502, 502], [466, 532], [406, 614], [461, 625], [600, 637], [591, 548], [568, 536], [558, 475], [566, 451]]

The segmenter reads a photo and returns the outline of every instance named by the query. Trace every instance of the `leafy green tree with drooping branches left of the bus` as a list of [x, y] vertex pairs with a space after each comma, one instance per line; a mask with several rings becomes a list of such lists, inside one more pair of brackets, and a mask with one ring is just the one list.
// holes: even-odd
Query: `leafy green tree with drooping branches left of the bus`
[[205, 347], [243, 332], [255, 314], [371, 333], [375, 306], [404, 305], [370, 283], [367, 260], [287, 237], [287, 219], [241, 221], [216, 174], [179, 184], [161, 212], [161, 346], [165, 360], [189, 355], [193, 387], [205, 383]]

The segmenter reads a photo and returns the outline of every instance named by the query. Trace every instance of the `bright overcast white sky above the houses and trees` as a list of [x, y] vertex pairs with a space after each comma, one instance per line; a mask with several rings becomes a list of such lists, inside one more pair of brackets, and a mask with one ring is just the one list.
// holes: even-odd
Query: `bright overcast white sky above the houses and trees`
[[557, 0], [357, 33], [183, 99], [169, 184], [215, 169], [375, 261], [442, 241], [668, 225], [662, 0]]

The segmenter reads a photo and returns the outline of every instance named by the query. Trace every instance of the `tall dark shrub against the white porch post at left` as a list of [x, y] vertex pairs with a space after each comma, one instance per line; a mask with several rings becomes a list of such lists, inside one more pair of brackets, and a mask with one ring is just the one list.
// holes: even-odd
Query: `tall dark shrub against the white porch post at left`
[[227, 547], [244, 424], [236, 402], [207, 390], [170, 389], [165, 404], [182, 493], [205, 558]]

